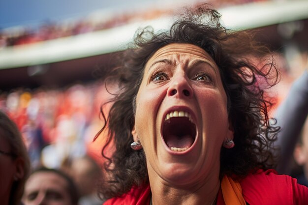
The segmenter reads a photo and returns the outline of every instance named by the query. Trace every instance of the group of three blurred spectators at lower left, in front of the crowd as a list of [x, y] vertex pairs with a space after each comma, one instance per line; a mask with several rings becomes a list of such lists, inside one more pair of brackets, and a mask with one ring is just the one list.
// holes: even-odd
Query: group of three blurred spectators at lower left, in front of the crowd
[[[1, 205], [101, 205], [102, 167], [87, 154], [56, 169], [32, 169], [16, 123], [0, 111]], [[21, 202], [22, 201], [22, 202]]]

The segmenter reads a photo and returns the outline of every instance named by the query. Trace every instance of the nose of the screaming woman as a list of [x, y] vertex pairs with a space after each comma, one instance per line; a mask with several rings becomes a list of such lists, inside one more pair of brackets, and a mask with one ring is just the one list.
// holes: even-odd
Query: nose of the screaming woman
[[188, 97], [193, 96], [193, 89], [185, 75], [175, 76], [171, 86], [168, 88], [168, 96]]

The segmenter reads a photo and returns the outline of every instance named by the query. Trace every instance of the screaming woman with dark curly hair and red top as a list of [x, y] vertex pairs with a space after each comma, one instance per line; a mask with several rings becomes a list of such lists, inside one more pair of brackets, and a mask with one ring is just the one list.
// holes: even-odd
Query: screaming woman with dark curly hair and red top
[[111, 72], [121, 91], [106, 120], [104, 205], [308, 203], [306, 187], [269, 170], [278, 128], [263, 89], [277, 69], [266, 47], [205, 6], [135, 43]]

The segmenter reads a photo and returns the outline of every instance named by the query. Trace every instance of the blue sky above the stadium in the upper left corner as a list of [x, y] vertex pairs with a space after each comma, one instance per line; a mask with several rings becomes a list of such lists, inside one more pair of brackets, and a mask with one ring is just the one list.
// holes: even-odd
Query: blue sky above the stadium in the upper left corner
[[100, 9], [121, 9], [159, 0], [0, 0], [0, 29], [81, 18]]

